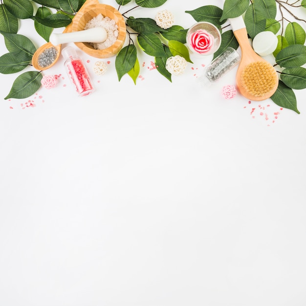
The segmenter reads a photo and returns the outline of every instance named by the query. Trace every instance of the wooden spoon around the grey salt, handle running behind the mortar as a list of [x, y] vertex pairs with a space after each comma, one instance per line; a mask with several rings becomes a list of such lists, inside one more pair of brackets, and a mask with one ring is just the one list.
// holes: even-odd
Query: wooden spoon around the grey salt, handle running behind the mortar
[[[79, 11], [76, 13], [75, 16], [77, 16], [80, 12], [82, 12], [83, 10], [86, 9], [87, 5], [91, 5], [91, 4], [99, 4], [99, 0], [87, 0], [84, 2], [84, 4], [82, 5], [82, 7], [79, 9]], [[74, 18], [75, 18], [74, 16]], [[63, 33], [69, 33], [72, 31], [72, 22], [69, 23], [65, 30], [63, 31]], [[51, 48], [51, 47], [54, 47], [56, 48], [56, 51], [57, 51], [57, 54], [56, 54], [56, 58], [55, 60], [49, 65], [49, 66], [45, 66], [45, 67], [42, 67], [38, 64], [38, 59], [39, 59], [39, 56], [48, 48]], [[50, 42], [49, 43], [46, 43], [46, 44], [43, 44], [41, 47], [39, 47], [35, 53], [33, 54], [33, 57], [32, 57], [32, 65], [35, 69], [37, 70], [46, 70], [50, 67], [52, 67], [57, 61], [58, 59], [60, 58], [60, 54], [61, 54], [61, 47], [62, 47], [62, 44], [59, 44], [59, 45], [53, 45], [51, 44]]]

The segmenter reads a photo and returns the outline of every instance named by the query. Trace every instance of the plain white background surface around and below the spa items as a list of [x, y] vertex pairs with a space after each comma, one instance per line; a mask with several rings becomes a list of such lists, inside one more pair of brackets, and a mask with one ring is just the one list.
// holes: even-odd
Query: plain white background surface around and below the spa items
[[[188, 28], [185, 10], [208, 4], [129, 16], [168, 9]], [[33, 21], [19, 34], [44, 43]], [[62, 59], [44, 71], [56, 88], [27, 99], [4, 100], [17, 75], [0, 75], [0, 305], [305, 306], [306, 91], [298, 115], [224, 99], [235, 69], [202, 87], [211, 58], [170, 83], [139, 50], [135, 86], [115, 58], [96, 76], [77, 52], [87, 97]]]

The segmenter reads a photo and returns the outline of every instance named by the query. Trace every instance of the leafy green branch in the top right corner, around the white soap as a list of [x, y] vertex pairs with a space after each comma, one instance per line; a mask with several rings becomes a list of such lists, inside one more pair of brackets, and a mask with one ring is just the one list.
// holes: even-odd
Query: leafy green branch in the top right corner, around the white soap
[[[305, 21], [289, 8], [300, 9], [302, 14], [305, 12], [306, 0], [295, 0], [292, 3], [288, 0], [225, 0], [221, 20], [244, 14], [247, 33], [251, 39], [262, 31], [271, 31], [277, 35], [278, 45], [273, 55], [280, 82], [271, 100], [281, 107], [300, 113], [293, 89], [306, 88], [306, 68], [302, 67], [306, 64], [306, 33], [298, 23]], [[276, 20], [278, 13], [281, 21]], [[289, 21], [285, 13], [295, 21]]]

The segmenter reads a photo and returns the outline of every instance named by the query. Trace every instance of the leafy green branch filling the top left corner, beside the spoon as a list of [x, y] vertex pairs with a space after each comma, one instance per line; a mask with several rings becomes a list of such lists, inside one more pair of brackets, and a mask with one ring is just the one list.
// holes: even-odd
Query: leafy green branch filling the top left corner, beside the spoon
[[[4, 37], [7, 50], [0, 57], [0, 73], [19, 73], [31, 66], [36, 51], [35, 45], [24, 35], [17, 34], [19, 20], [32, 19], [36, 32], [46, 42], [53, 28], [71, 23], [85, 0], [0, 0], [0, 34]], [[38, 7], [34, 15], [34, 6]], [[19, 75], [4, 99], [27, 98], [41, 87], [41, 71], [27, 71]]]

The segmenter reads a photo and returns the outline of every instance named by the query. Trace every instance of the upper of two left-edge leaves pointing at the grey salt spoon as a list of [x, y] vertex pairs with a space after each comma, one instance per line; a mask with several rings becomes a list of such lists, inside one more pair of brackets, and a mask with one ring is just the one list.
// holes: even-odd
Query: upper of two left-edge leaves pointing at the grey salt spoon
[[4, 42], [9, 52], [24, 52], [32, 57], [36, 51], [35, 45], [25, 36], [0, 31], [4, 36]]

